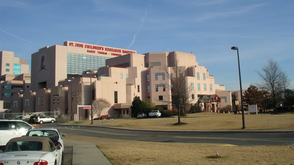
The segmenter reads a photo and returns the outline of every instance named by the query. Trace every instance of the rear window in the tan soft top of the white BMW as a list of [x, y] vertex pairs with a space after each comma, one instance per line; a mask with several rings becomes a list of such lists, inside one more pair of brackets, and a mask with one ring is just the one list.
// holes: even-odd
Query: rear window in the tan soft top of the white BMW
[[11, 151], [41, 151], [43, 149], [42, 142], [36, 141], [21, 141], [21, 142], [12, 142], [7, 146], [5, 152]]

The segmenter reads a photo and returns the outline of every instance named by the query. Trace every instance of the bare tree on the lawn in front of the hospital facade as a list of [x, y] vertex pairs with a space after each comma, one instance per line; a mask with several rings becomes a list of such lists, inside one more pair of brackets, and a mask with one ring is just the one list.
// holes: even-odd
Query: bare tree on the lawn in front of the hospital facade
[[192, 90], [191, 85], [186, 84], [186, 78], [184, 76], [184, 70], [181, 66], [179, 66], [179, 61], [175, 61], [175, 65], [172, 67], [165, 66], [163, 68], [165, 73], [167, 74], [166, 77], [170, 80], [170, 84], [166, 83], [166, 88], [171, 90], [171, 95], [167, 95], [168, 100], [171, 101], [163, 101], [168, 102], [175, 105], [178, 109], [178, 124], [181, 123], [180, 117], [180, 107], [185, 106], [192, 102]]

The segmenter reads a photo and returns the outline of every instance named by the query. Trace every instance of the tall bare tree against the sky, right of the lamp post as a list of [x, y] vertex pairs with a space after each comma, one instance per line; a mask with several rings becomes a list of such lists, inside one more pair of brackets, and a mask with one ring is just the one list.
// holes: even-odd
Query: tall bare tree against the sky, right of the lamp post
[[274, 112], [276, 114], [277, 98], [283, 93], [284, 86], [289, 84], [287, 75], [280, 69], [278, 63], [271, 58], [263, 65], [262, 71], [256, 71], [256, 73], [262, 81], [260, 84], [257, 84], [257, 86], [270, 92], [273, 97]]

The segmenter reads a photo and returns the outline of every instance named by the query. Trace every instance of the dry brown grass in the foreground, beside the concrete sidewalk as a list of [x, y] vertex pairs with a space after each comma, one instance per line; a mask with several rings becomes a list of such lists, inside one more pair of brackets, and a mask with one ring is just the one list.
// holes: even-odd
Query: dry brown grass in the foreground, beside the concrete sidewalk
[[[98, 144], [113, 165], [293, 165], [293, 146], [238, 147], [220, 144], [132, 142]], [[206, 156], [216, 156], [210, 159]]]

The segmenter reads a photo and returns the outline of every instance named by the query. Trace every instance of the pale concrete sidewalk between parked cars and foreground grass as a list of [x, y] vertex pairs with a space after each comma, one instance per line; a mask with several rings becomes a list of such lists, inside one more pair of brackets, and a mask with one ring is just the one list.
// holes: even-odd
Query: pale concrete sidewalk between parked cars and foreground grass
[[112, 165], [103, 153], [96, 147], [95, 142], [69, 140], [64, 138], [65, 145], [73, 146], [73, 165], [102, 164]]

